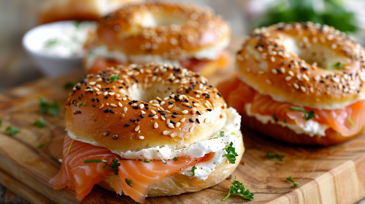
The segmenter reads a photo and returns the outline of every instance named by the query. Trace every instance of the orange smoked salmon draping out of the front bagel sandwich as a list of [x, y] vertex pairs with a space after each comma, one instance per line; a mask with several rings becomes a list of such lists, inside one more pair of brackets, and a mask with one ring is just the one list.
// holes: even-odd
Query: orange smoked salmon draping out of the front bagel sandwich
[[[106, 160], [110, 164], [112, 160], [118, 158], [120, 179], [113, 179], [112, 186], [120, 195], [123, 192], [142, 203], [155, 182], [183, 169], [193, 167], [199, 162], [209, 161], [214, 156], [214, 153], [209, 153], [204, 157], [179, 158], [177, 161], [125, 160], [107, 148], [72, 140], [68, 135], [65, 137], [63, 148], [61, 169], [55, 177], [51, 178], [49, 186], [56, 190], [67, 186], [76, 191], [76, 201], [78, 202], [84, 199], [95, 184], [110, 177], [112, 172], [103, 169], [105, 166], [103, 162], [84, 163], [84, 160]], [[127, 180], [128, 182], [130, 180], [130, 183], [127, 183]]]

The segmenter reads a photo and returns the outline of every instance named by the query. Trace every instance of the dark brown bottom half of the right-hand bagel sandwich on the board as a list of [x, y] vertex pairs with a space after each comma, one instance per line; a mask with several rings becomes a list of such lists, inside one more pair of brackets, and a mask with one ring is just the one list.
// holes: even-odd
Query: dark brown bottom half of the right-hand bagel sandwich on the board
[[272, 137], [276, 140], [280, 140], [283, 142], [288, 142], [296, 145], [333, 145], [338, 144], [351, 138], [358, 136], [355, 134], [353, 136], [344, 137], [334, 129], [329, 128], [326, 130], [326, 136], [318, 137], [318, 136], [309, 136], [307, 134], [296, 134], [293, 130], [288, 127], [283, 127], [278, 124], [272, 124], [268, 122], [264, 124], [258, 121], [255, 117], [248, 116], [245, 111], [241, 113], [242, 119], [241, 124], [244, 127], [253, 130], [254, 132], [263, 134], [268, 137]]

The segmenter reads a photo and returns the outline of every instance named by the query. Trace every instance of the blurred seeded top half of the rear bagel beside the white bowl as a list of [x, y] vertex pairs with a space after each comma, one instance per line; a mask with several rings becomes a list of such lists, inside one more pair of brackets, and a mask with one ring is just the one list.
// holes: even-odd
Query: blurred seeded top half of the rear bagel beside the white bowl
[[[157, 23], [146, 23], [149, 20]], [[97, 44], [129, 55], [168, 58], [228, 42], [230, 34], [228, 23], [210, 8], [172, 1], [147, 2], [101, 19]]]

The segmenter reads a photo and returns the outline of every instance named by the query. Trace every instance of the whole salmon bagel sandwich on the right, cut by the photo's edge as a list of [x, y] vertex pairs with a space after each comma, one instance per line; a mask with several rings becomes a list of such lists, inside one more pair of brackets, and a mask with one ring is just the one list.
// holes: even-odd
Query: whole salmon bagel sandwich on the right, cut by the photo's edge
[[326, 25], [258, 28], [237, 53], [238, 79], [218, 89], [246, 126], [271, 123], [258, 132], [295, 144], [335, 144], [364, 128], [364, 53]]

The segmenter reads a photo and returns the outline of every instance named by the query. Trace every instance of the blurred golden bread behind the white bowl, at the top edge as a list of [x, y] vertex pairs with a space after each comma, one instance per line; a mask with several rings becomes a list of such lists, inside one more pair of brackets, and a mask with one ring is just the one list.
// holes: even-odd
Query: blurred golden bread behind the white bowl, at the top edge
[[[108, 0], [108, 6], [118, 9], [128, 3], [141, 0]], [[105, 6], [105, 5], [104, 5]], [[39, 11], [39, 23], [60, 20], [98, 20], [103, 17], [97, 0], [48, 0], [44, 1]]]

